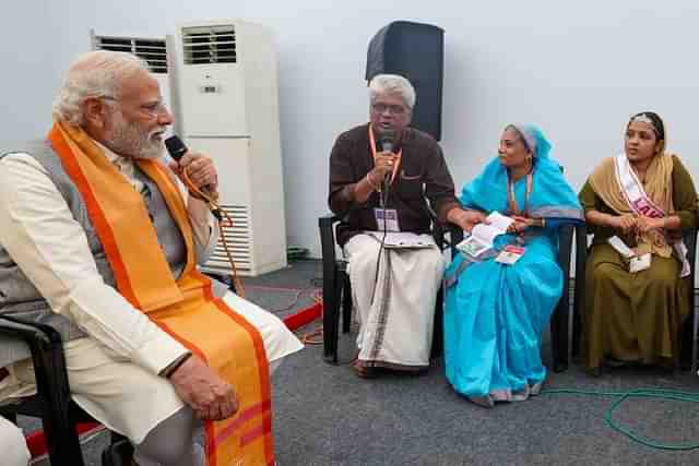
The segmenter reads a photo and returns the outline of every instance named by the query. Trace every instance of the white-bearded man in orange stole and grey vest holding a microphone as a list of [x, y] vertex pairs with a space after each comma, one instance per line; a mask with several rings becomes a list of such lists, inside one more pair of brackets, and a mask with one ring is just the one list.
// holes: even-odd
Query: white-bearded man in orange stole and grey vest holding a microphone
[[[70, 68], [45, 141], [0, 155], [0, 312], [57, 328], [72, 398], [146, 466], [273, 464], [270, 368], [300, 349], [274, 315], [197, 270], [216, 241], [212, 159], [166, 166], [173, 118], [137, 57]], [[182, 178], [183, 179], [183, 178]], [[31, 361], [0, 398], [33, 390]], [[7, 382], [7, 381], [5, 381]]]

